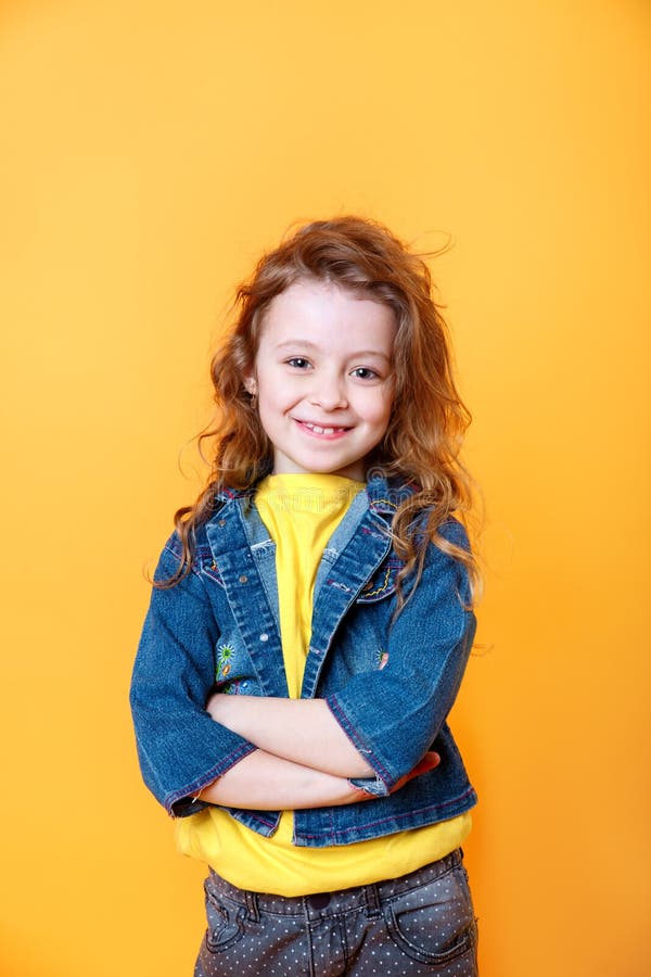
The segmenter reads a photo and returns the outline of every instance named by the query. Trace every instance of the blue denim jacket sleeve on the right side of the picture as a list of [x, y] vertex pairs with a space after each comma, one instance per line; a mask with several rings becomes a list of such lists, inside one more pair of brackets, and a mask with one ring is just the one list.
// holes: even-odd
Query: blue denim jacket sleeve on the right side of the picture
[[[455, 542], [463, 545], [464, 531], [456, 525]], [[375, 771], [374, 778], [355, 779], [356, 786], [387, 795], [432, 748], [472, 647], [469, 600], [465, 568], [431, 545], [421, 580], [391, 629], [386, 665], [327, 696], [334, 718]]]

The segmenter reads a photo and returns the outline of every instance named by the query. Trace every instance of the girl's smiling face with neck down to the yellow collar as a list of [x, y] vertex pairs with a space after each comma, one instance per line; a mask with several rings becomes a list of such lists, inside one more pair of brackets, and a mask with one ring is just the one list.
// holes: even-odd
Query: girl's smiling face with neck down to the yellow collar
[[253, 372], [275, 474], [329, 472], [363, 481], [394, 394], [395, 316], [321, 281], [297, 281], [265, 314]]

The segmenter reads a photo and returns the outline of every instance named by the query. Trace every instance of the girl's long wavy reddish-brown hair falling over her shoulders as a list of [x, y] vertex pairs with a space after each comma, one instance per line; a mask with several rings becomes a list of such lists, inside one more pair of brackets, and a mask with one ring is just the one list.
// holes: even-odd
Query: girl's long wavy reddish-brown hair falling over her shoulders
[[199, 437], [210, 472], [194, 505], [175, 513], [182, 559], [177, 573], [157, 585], [173, 586], [189, 572], [195, 531], [209, 519], [216, 494], [226, 487], [248, 490], [272, 470], [273, 446], [244, 377], [254, 369], [270, 303], [306, 279], [381, 302], [395, 315], [392, 416], [382, 442], [367, 459], [367, 473], [396, 477], [414, 488], [398, 494], [392, 523], [394, 548], [405, 563], [400, 582], [414, 570], [418, 582], [426, 543], [432, 541], [467, 567], [475, 589], [478, 574], [472, 553], [439, 532], [452, 515], [468, 522], [473, 491], [459, 458], [470, 414], [455, 384], [448, 331], [432, 295], [430, 270], [387, 228], [356, 216], [301, 227], [265, 254], [239, 287], [233, 328], [210, 364], [216, 418]]

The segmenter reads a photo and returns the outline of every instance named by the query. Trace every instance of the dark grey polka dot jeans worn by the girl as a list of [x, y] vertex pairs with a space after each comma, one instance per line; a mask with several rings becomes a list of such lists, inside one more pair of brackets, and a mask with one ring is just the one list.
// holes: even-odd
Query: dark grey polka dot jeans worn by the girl
[[215, 873], [194, 977], [476, 977], [477, 930], [461, 850], [401, 878], [285, 898]]

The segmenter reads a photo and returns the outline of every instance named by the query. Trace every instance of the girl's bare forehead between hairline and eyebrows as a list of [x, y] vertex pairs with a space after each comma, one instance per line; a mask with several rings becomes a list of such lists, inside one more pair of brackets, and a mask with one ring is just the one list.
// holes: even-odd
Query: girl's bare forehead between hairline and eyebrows
[[388, 355], [396, 318], [393, 309], [363, 293], [318, 280], [299, 280], [271, 300], [260, 344], [304, 341], [317, 346], [362, 348]]

